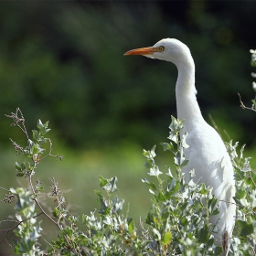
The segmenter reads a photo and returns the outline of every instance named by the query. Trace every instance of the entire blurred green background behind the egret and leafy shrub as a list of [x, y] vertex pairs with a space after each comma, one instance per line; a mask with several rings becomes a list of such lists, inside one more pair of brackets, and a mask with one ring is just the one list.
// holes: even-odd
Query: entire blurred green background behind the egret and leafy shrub
[[[121, 214], [133, 216], [134, 227], [140, 227], [139, 218], [144, 222], [152, 206], [141, 182], [146, 176], [142, 149], [157, 144], [156, 161], [164, 174], [165, 165], [172, 165], [170, 153], [163, 152], [158, 144], [167, 136], [169, 116], [176, 116], [176, 69], [163, 61], [156, 63], [139, 57], [134, 63], [124, 58], [123, 53], [150, 46], [163, 37], [176, 37], [191, 49], [197, 67], [197, 99], [204, 117], [208, 119], [211, 114], [225, 141], [230, 137], [234, 142], [247, 144], [244, 157], [256, 155], [255, 137], [251, 135], [255, 130], [255, 113], [241, 110], [237, 95], [240, 92], [244, 104], [250, 105], [253, 96], [248, 48], [255, 48], [256, 34], [248, 31], [255, 28], [255, 4], [1, 3], [0, 186], [7, 190], [23, 187], [14, 194], [27, 197], [27, 179], [14, 178], [15, 163], [27, 162], [27, 157], [16, 156], [9, 141], [12, 138], [25, 145], [27, 137], [10, 129], [9, 120], [4, 117], [19, 106], [27, 116], [27, 131], [34, 129], [38, 117], [50, 121], [55, 152], [64, 155], [63, 161], [46, 158], [39, 162], [36, 176], [45, 187], [43, 197], [48, 198], [48, 187], [52, 186], [48, 178], [54, 177], [66, 197], [69, 214], [90, 216], [93, 208], [99, 208], [93, 193], [99, 187], [98, 176], [117, 176], [120, 190], [113, 197], [125, 198]], [[28, 133], [29, 137], [32, 135]], [[256, 166], [256, 157], [251, 159], [251, 165]], [[8, 193], [1, 190], [0, 196]], [[54, 208], [54, 198], [47, 200], [46, 204], [41, 203], [47, 209]], [[27, 203], [31, 203], [33, 214], [35, 201], [27, 199]], [[1, 204], [0, 219], [9, 218], [13, 208], [14, 203]], [[43, 237], [55, 240], [59, 229], [53, 228], [49, 219], [39, 219], [43, 219]], [[250, 228], [250, 218], [244, 219]], [[81, 220], [78, 226], [84, 230]], [[8, 224], [1, 222], [0, 229], [9, 228]], [[25, 231], [34, 229], [36, 234], [39, 220], [30, 224]], [[240, 224], [236, 234], [244, 226]], [[18, 232], [16, 240], [22, 236]], [[13, 236], [9, 232], [8, 241]], [[164, 237], [168, 240], [169, 235]], [[34, 238], [40, 239], [42, 248], [48, 247], [37, 234]], [[8, 254], [13, 255], [13, 249], [4, 241], [0, 244], [0, 255]]]

